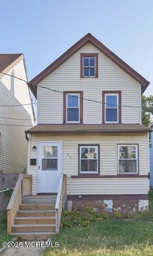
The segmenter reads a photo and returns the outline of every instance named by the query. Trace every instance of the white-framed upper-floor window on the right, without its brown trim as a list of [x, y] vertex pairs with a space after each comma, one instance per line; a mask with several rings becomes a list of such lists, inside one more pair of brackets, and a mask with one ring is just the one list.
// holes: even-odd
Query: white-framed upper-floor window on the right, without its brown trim
[[105, 122], [106, 123], [118, 123], [119, 122], [119, 95], [105, 94]]

